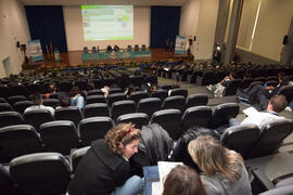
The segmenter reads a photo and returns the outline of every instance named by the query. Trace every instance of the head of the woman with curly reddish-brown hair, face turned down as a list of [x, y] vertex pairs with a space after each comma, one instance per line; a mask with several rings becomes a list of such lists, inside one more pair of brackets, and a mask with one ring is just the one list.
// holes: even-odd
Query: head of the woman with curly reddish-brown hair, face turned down
[[104, 141], [113, 153], [130, 158], [138, 152], [141, 130], [129, 123], [119, 123], [105, 134]]

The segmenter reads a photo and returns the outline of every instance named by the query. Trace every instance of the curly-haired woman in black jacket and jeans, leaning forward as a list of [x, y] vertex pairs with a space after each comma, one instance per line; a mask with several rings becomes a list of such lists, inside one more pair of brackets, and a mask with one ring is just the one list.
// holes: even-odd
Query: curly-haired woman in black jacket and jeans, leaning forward
[[138, 152], [141, 130], [132, 123], [119, 123], [92, 142], [79, 161], [68, 185], [69, 195], [119, 194], [137, 195], [143, 180], [130, 176], [129, 158]]

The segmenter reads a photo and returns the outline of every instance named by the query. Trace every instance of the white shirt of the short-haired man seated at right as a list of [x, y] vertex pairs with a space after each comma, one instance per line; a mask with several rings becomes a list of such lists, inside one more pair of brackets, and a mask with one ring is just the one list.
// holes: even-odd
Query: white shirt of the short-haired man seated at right
[[278, 116], [276, 113], [259, 112], [257, 115], [246, 117], [241, 123], [254, 123], [258, 126], [260, 130], [263, 130], [266, 127], [266, 125], [284, 119], [285, 119], [284, 117]]

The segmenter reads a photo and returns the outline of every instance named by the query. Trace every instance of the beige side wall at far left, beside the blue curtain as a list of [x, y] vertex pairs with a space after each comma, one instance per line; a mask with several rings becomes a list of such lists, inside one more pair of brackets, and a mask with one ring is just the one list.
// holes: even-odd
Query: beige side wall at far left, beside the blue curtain
[[10, 58], [10, 74], [22, 70], [24, 55], [16, 41], [27, 44], [30, 40], [24, 5], [18, 0], [0, 0], [0, 78], [7, 77], [2, 61]]

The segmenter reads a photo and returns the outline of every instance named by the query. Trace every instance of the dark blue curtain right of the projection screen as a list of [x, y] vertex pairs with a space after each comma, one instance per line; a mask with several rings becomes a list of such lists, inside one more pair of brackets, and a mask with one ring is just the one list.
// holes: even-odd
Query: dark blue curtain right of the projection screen
[[180, 14], [180, 6], [151, 6], [151, 48], [165, 48], [166, 39], [175, 43]]

